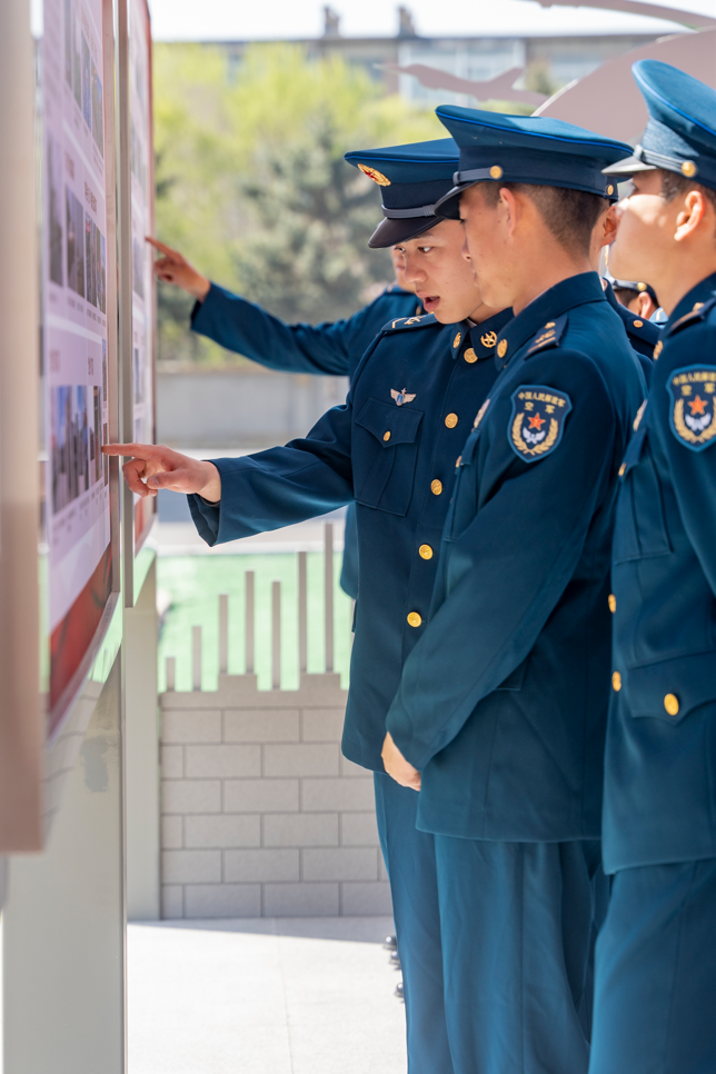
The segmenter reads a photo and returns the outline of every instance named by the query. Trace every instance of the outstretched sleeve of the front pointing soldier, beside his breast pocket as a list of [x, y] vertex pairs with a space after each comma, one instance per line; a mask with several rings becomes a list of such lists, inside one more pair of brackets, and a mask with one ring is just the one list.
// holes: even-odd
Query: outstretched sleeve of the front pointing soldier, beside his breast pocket
[[305, 439], [238, 459], [215, 459], [221, 499], [189, 496], [199, 536], [209, 545], [280, 529], [325, 515], [354, 498], [351, 405], [328, 410]]

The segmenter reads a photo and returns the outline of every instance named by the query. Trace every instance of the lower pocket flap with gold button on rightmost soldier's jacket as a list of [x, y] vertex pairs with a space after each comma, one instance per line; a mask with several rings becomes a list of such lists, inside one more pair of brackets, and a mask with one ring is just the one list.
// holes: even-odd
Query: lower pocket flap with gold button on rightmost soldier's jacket
[[716, 700], [716, 653], [695, 653], [627, 672], [633, 716], [678, 724], [693, 709]]

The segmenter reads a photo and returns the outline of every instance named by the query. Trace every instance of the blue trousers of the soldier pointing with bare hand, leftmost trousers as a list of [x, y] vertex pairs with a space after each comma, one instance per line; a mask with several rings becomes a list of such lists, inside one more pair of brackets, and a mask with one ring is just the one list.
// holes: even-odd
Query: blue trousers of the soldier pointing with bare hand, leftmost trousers
[[408, 1074], [454, 1074], [445, 1015], [435, 837], [418, 832], [418, 795], [375, 774], [382, 856], [402, 966]]

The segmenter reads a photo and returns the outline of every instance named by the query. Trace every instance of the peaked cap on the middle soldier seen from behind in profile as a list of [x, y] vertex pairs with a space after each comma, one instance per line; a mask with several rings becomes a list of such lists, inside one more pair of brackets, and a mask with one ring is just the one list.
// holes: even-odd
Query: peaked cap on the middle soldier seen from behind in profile
[[459, 195], [476, 182], [529, 182], [616, 197], [616, 183], [601, 171], [630, 147], [560, 119], [507, 116], [477, 108], [440, 106], [437, 117], [460, 147], [455, 186], [438, 202], [446, 217], [459, 217]]

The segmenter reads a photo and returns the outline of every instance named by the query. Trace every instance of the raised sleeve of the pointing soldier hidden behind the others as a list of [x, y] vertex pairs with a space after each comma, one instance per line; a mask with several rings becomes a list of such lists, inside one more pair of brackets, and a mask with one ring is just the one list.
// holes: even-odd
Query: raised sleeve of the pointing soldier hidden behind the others
[[365, 321], [366, 310], [359, 310], [331, 324], [287, 325], [216, 284], [191, 314], [192, 331], [268, 369], [336, 377], [349, 375], [384, 322]]

